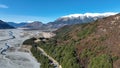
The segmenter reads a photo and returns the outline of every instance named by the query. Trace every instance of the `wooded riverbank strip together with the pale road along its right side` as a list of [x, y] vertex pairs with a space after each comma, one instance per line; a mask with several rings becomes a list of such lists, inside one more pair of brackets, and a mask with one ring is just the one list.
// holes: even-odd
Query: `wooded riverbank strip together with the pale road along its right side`
[[[49, 34], [44, 34], [44, 36], [45, 37], [42, 38], [42, 40], [51, 37], [51, 35]], [[41, 63], [41, 68], [62, 68], [61, 65], [54, 58], [49, 56], [42, 48], [39, 47], [37, 43], [39, 43], [42, 40], [37, 40], [37, 38], [31, 38], [24, 41], [24, 45], [21, 50], [25, 50], [26, 52], [31, 51], [33, 56], [37, 59], [37, 61]]]

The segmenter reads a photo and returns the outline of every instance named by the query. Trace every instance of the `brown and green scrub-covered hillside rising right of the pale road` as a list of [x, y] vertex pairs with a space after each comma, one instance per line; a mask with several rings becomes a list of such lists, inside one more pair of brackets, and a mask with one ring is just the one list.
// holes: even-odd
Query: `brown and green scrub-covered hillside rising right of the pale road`
[[[120, 14], [66, 25], [54, 33], [56, 36], [37, 44], [62, 68], [120, 68]], [[35, 57], [41, 57], [34, 50]]]

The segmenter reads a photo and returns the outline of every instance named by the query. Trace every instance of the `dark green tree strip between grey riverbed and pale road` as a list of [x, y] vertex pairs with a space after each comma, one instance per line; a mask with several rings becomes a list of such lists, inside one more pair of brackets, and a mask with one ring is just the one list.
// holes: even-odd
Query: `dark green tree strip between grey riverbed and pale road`
[[36, 44], [34, 41], [36, 38], [30, 38], [23, 42], [24, 45], [31, 45], [31, 52], [33, 56], [37, 59], [38, 62], [40, 62], [40, 68], [54, 68], [54, 65], [52, 65], [51, 60], [48, 59], [48, 57], [44, 56], [40, 50], [37, 49], [38, 44]]

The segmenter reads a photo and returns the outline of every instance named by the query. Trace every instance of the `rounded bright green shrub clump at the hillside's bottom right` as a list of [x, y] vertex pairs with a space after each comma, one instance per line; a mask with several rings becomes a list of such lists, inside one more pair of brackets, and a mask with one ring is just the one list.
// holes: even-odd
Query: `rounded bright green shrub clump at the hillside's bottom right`
[[113, 68], [112, 58], [109, 55], [102, 54], [90, 60], [88, 68]]

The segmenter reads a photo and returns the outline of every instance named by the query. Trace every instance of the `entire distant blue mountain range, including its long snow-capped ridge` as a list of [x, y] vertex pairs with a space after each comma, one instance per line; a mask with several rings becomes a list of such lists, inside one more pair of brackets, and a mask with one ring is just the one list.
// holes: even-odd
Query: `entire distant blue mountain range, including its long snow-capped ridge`
[[9, 25], [16, 28], [28, 28], [28, 29], [58, 29], [65, 25], [79, 24], [79, 23], [89, 23], [97, 19], [108, 17], [110, 15], [115, 15], [116, 13], [85, 13], [85, 14], [71, 14], [67, 16], [62, 16], [56, 19], [54, 22], [48, 22], [43, 24], [39, 21], [34, 21], [31, 23], [22, 22], [14, 23], [7, 22]]

